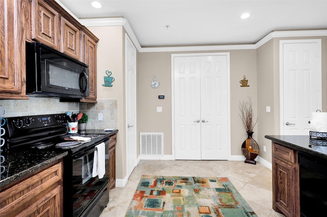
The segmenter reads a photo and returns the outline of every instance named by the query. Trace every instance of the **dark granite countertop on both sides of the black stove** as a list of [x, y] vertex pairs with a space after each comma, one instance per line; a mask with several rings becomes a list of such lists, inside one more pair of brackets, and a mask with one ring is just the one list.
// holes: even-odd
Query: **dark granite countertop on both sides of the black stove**
[[[118, 132], [118, 129], [104, 131], [103, 129], [88, 129], [81, 133], [108, 134], [108, 137]], [[68, 152], [60, 149], [44, 150], [9, 150], [0, 152], [1, 155], [1, 179], [0, 188], [33, 173], [45, 166], [52, 164], [66, 156]], [[4, 162], [3, 162], [4, 159]]]

